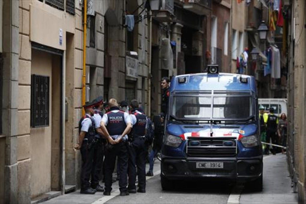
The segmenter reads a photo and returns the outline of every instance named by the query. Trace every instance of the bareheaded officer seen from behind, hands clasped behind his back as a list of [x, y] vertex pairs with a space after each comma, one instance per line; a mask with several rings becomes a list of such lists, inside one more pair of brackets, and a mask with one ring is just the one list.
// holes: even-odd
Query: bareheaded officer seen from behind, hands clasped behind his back
[[110, 111], [103, 115], [101, 120], [101, 129], [103, 134], [114, 139], [112, 146], [108, 145], [105, 150], [105, 191], [104, 195], [110, 195], [112, 190], [112, 177], [115, 167], [116, 156], [119, 162], [119, 190], [120, 195], [129, 195], [127, 191], [127, 168], [128, 168], [128, 150], [127, 134], [132, 129], [131, 119], [128, 113], [119, 110], [115, 99], [108, 102]]

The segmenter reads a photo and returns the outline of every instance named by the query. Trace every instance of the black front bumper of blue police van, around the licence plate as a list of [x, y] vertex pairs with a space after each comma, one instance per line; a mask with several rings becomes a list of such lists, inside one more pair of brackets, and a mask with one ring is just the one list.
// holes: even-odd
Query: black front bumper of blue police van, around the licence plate
[[[161, 176], [167, 179], [229, 179], [248, 182], [262, 175], [263, 157], [249, 158], [199, 158], [199, 157], [165, 157], [162, 156]], [[218, 162], [222, 168], [197, 168], [197, 163]]]

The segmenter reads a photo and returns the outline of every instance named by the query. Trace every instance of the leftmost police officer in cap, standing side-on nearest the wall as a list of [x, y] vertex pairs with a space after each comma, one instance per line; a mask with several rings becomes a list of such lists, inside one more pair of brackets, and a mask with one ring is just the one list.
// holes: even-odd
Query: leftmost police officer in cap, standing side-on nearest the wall
[[91, 103], [84, 106], [85, 115], [79, 121], [79, 142], [75, 149], [81, 150], [82, 170], [81, 170], [81, 191], [83, 194], [95, 194], [96, 190], [90, 187], [90, 175], [92, 171], [92, 159], [94, 157], [95, 141], [95, 121], [92, 119], [94, 109]]

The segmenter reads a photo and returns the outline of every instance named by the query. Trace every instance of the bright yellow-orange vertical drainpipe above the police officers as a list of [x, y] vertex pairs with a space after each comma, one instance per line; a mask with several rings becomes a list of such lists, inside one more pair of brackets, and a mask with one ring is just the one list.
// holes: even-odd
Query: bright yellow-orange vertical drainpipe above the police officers
[[[83, 77], [82, 77], [82, 106], [85, 105], [85, 88], [86, 88], [86, 30], [87, 30], [87, 0], [84, 0], [84, 35], [83, 35]], [[85, 110], [82, 108], [82, 115], [85, 115]]]

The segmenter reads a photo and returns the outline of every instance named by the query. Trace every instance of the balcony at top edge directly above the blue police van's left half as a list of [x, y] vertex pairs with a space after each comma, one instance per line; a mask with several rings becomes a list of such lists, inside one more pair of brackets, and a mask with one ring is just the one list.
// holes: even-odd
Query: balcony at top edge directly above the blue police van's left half
[[207, 15], [207, 9], [211, 10], [211, 0], [180, 0], [183, 8], [198, 15]]

